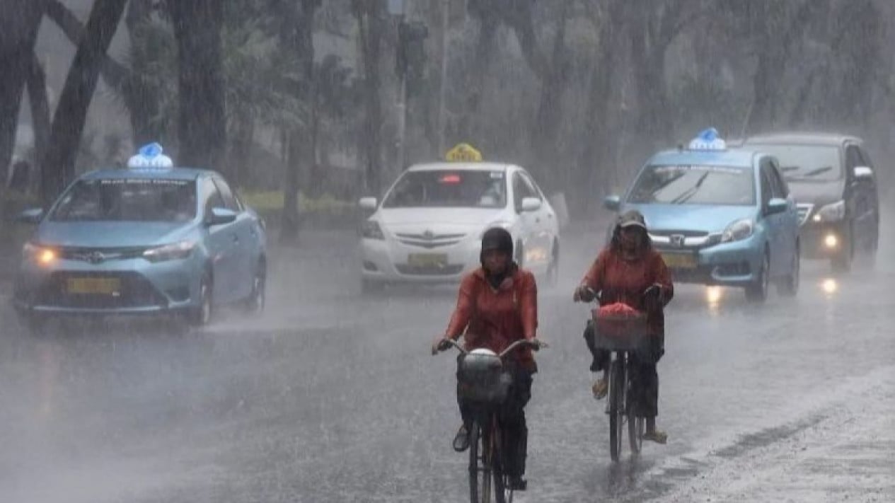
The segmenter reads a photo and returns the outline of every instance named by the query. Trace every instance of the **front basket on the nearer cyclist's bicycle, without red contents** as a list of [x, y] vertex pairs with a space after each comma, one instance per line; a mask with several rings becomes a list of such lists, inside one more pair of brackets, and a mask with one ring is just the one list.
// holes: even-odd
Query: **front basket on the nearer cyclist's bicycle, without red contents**
[[463, 400], [499, 404], [507, 398], [509, 375], [500, 357], [488, 349], [475, 349], [460, 358], [457, 379]]

